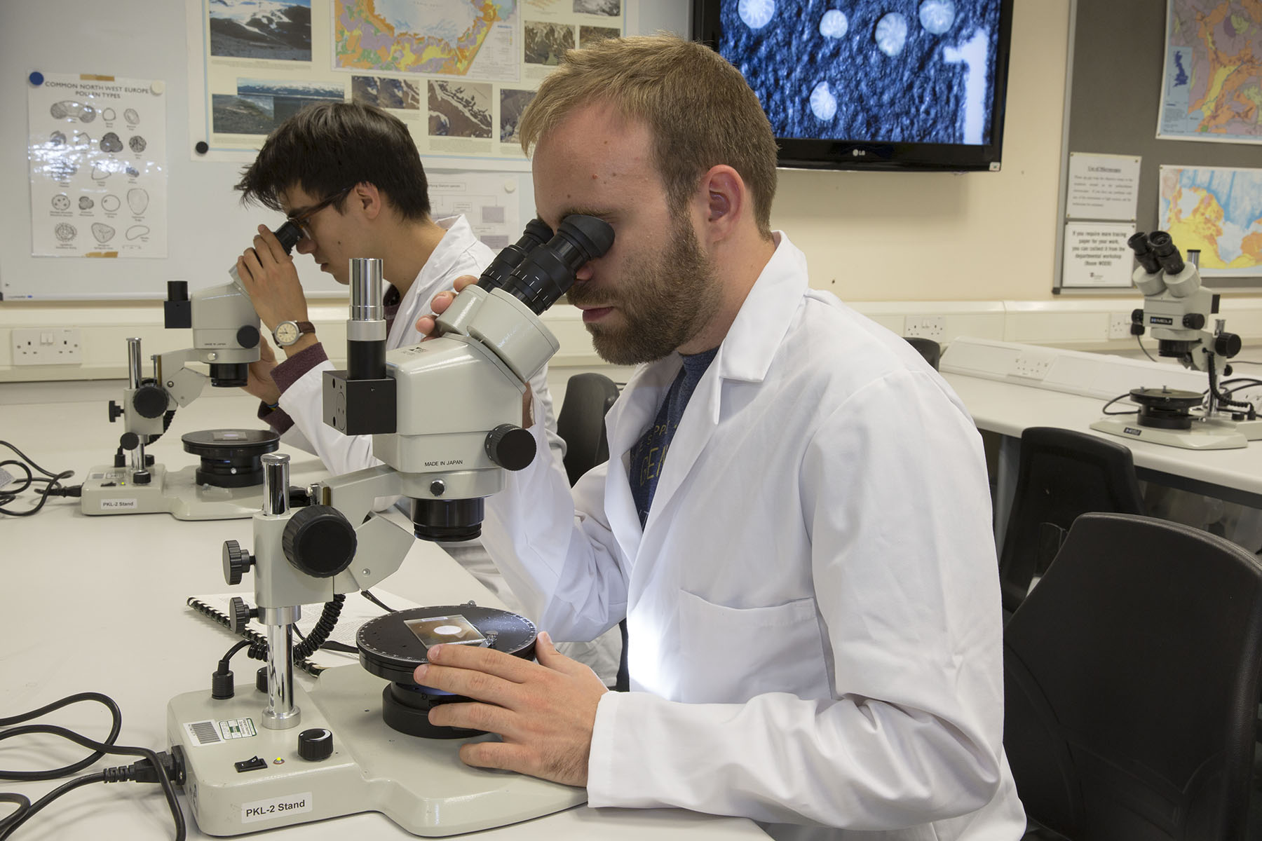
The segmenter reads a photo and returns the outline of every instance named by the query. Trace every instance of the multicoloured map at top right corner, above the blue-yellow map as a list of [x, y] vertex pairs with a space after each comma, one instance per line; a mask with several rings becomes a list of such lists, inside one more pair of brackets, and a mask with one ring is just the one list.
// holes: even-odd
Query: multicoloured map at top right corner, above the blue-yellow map
[[1262, 142], [1262, 0], [1169, 0], [1159, 137]]

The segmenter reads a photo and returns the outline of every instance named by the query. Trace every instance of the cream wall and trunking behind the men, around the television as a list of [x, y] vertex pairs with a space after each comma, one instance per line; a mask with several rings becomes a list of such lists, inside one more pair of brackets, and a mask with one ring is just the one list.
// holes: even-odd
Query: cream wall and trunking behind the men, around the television
[[[1016, 0], [1002, 171], [781, 171], [772, 222], [806, 252], [813, 285], [895, 332], [909, 316], [941, 315], [943, 340], [978, 335], [1135, 348], [1106, 337], [1109, 315], [1138, 306], [1137, 294], [1051, 295], [1069, 6], [1070, 0]], [[8, 19], [10, 6], [4, 9]], [[3, 165], [24, 165], [13, 158]], [[25, 195], [5, 200], [10, 213], [28, 212]], [[223, 243], [225, 253], [239, 250]], [[1223, 309], [1230, 329], [1262, 338], [1262, 299], [1224, 299]], [[554, 310], [548, 320], [562, 353], [553, 367], [598, 364], [577, 313]], [[328, 345], [341, 347], [345, 305], [322, 301], [312, 315]], [[83, 364], [14, 367], [11, 328], [42, 325], [82, 327]], [[127, 335], [143, 337], [146, 354], [187, 342], [183, 332], [162, 329], [158, 303], [0, 301], [0, 382], [124, 376]]]

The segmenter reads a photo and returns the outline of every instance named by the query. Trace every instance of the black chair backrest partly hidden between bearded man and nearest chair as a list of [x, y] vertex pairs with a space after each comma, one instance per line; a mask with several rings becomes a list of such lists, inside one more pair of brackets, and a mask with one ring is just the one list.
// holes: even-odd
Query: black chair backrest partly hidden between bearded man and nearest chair
[[1016, 610], [1069, 527], [1089, 511], [1142, 514], [1131, 450], [1087, 432], [1031, 426], [1021, 434], [1012, 511], [1000, 552], [1003, 609]]

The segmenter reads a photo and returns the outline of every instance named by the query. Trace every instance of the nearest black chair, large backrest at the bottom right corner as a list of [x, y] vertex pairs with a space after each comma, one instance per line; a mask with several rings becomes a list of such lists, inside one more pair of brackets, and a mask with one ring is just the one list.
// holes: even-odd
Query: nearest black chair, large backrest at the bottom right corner
[[1257, 557], [1180, 523], [1083, 514], [1005, 629], [1003, 744], [1026, 813], [1073, 841], [1243, 840], [1259, 662]]

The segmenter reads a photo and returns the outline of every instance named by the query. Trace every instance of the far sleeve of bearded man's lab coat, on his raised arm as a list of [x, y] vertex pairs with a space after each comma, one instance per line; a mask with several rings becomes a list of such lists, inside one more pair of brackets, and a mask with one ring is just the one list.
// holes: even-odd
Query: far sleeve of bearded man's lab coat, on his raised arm
[[[549, 438], [535, 402], [531, 432]], [[486, 502], [482, 543], [528, 617], [558, 642], [596, 639], [626, 615], [623, 559], [604, 518], [604, 465], [572, 489], [560, 455], [535, 458]]]

